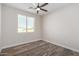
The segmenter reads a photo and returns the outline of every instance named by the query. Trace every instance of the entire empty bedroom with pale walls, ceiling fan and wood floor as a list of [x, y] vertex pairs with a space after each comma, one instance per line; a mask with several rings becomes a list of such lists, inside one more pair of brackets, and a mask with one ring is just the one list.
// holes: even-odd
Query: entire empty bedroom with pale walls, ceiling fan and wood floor
[[0, 56], [79, 56], [79, 3], [0, 3]]

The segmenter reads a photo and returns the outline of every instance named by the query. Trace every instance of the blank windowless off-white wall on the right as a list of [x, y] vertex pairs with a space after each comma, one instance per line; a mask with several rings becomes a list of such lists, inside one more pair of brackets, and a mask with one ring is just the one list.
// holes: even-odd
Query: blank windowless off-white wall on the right
[[79, 52], [79, 4], [44, 16], [43, 39]]

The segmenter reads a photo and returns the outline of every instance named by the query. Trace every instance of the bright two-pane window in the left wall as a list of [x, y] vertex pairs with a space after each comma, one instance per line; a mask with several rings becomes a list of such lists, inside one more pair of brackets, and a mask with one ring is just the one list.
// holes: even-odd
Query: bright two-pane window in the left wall
[[18, 32], [34, 32], [34, 17], [18, 15]]

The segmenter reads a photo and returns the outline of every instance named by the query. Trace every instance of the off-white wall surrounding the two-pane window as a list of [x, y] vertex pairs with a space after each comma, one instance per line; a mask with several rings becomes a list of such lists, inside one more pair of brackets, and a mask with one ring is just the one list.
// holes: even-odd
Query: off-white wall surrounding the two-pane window
[[[3, 6], [2, 7], [2, 36], [3, 36], [3, 48], [27, 43], [30, 41], [39, 40], [41, 38], [40, 29], [40, 16], [30, 14], [28, 12], [18, 10], [15, 8]], [[22, 14], [26, 16], [33, 16], [35, 20], [35, 32], [33, 33], [18, 33], [18, 19], [17, 15]]]

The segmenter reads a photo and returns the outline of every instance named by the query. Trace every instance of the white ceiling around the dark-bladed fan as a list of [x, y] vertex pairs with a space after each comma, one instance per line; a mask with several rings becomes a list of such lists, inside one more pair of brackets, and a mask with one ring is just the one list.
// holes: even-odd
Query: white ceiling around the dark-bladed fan
[[[40, 3], [39, 5], [42, 4], [43, 3]], [[37, 14], [35, 9], [29, 9], [29, 7], [34, 7], [33, 3], [5, 3], [4, 5], [28, 11], [32, 14]], [[35, 5], [37, 5], [37, 3], [35, 3]], [[67, 5], [69, 5], [69, 3], [48, 3], [48, 5], [43, 7], [43, 9], [48, 10], [48, 12], [40, 11], [39, 15], [51, 13], [52, 11], [62, 7], [66, 7]]]

